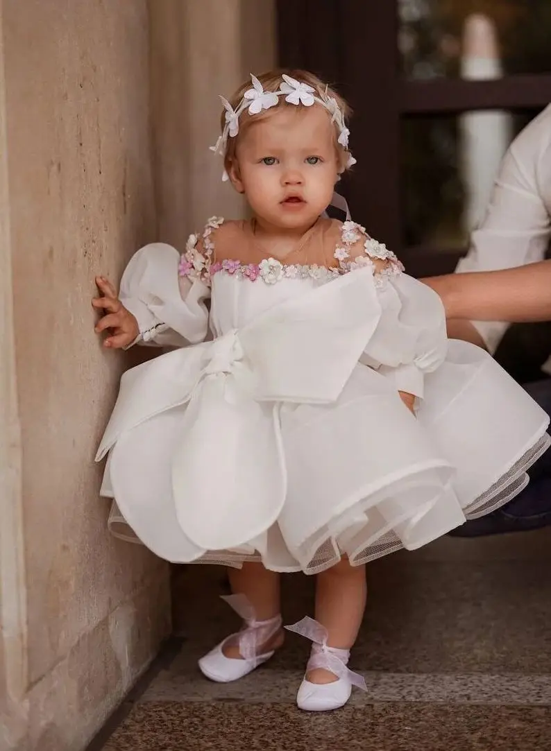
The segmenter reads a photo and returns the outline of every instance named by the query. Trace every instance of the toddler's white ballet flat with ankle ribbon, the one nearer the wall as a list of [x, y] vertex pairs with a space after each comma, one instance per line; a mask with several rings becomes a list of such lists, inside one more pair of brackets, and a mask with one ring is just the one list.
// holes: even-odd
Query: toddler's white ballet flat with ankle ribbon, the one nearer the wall
[[[275, 650], [263, 654], [257, 654], [256, 650], [280, 631], [281, 616], [257, 621], [253, 606], [243, 595], [230, 595], [222, 599], [226, 600], [230, 607], [243, 618], [243, 629], [220, 642], [213, 650], [201, 657], [198, 664], [201, 673], [210, 680], [216, 683], [231, 683], [251, 673], [274, 656]], [[230, 641], [238, 644], [239, 653], [243, 659], [226, 657], [223, 653], [224, 647]]]

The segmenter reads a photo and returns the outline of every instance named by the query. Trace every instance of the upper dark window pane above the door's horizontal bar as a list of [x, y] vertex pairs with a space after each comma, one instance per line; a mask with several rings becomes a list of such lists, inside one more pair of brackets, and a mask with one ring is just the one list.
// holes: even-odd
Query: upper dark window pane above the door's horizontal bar
[[398, 0], [398, 8], [408, 78], [551, 71], [549, 0]]

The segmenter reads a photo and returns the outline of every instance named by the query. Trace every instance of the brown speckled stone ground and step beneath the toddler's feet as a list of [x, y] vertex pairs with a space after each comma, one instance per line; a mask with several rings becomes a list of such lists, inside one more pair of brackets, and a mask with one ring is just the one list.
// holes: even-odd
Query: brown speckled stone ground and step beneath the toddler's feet
[[[368, 572], [370, 599], [350, 662], [365, 674], [344, 709], [295, 707], [308, 645], [238, 683], [204, 680], [196, 661], [237, 624], [217, 598], [222, 569], [174, 578], [181, 650], [132, 704], [104, 751], [546, 751], [551, 748], [551, 529], [444, 538]], [[312, 612], [313, 581], [284, 582], [283, 616]]]

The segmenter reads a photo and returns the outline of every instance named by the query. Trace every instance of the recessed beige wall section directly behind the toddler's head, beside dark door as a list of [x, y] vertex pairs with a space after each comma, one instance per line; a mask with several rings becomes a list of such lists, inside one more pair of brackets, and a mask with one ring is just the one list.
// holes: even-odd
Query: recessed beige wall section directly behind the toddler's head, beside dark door
[[150, 0], [159, 239], [182, 248], [209, 216], [243, 216], [209, 151], [222, 105], [275, 59], [274, 0]]

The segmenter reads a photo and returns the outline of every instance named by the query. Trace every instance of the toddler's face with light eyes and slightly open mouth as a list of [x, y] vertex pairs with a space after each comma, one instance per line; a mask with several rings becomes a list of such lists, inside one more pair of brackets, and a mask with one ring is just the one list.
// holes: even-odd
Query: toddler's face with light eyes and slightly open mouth
[[278, 107], [251, 122], [229, 169], [256, 217], [303, 231], [331, 202], [338, 179], [335, 125], [323, 107]]

